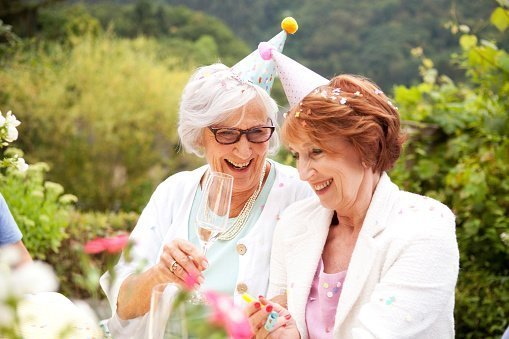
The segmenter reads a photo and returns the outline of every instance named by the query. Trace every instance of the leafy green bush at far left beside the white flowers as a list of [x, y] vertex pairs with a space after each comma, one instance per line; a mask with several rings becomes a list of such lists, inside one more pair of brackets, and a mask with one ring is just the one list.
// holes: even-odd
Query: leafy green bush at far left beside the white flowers
[[[5, 155], [21, 150], [8, 148]], [[1, 153], [0, 153], [1, 155]], [[1, 193], [23, 233], [23, 243], [34, 259], [51, 264], [60, 281], [60, 290], [72, 298], [99, 297], [99, 276], [111, 256], [85, 260], [83, 245], [96, 237], [130, 232], [138, 219], [135, 212], [80, 213], [77, 198], [63, 194], [64, 188], [44, 179], [49, 166], [30, 165], [25, 172], [17, 166], [0, 172]]]

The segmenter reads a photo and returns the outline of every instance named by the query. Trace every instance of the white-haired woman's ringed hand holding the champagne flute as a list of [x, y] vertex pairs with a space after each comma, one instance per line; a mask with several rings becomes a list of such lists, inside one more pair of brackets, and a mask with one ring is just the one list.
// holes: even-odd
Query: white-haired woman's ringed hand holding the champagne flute
[[[208, 266], [207, 258], [192, 243], [184, 239], [174, 239], [165, 244], [159, 262], [154, 267], [164, 281], [192, 288], [203, 283], [203, 274]], [[190, 286], [191, 285], [191, 286]]]

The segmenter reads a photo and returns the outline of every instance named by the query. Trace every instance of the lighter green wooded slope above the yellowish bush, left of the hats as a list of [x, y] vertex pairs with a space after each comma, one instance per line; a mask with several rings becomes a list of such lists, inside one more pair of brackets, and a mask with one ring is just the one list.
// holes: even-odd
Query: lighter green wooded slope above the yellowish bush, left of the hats
[[178, 46], [173, 54], [191, 65], [218, 60], [233, 65], [249, 53], [224, 23], [183, 6], [141, 0], [133, 5], [93, 4], [88, 9], [104, 28], [111, 27], [121, 37], [149, 36]]

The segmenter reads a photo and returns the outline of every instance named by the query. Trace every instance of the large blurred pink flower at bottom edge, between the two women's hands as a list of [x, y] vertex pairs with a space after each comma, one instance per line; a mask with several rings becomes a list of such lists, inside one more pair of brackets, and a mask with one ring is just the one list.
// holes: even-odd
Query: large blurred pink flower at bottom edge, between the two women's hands
[[205, 298], [212, 307], [210, 323], [224, 327], [230, 338], [247, 339], [252, 337], [247, 317], [243, 310], [233, 303], [230, 296], [207, 291]]

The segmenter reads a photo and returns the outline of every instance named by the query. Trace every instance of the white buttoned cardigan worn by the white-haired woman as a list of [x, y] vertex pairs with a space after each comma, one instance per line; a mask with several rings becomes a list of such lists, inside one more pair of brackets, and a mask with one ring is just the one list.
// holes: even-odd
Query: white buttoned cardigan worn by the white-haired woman
[[[265, 295], [269, 282], [270, 250], [272, 236], [279, 214], [291, 203], [312, 195], [308, 184], [301, 181], [295, 168], [270, 160], [276, 176], [265, 207], [251, 230], [237, 240], [247, 251], [239, 256], [236, 284], [243, 282], [252, 295]], [[208, 165], [194, 171], [180, 172], [162, 182], [150, 198], [138, 223], [130, 235], [135, 245], [131, 251], [133, 261], [126, 263], [122, 257], [115, 266], [116, 278], [110, 284], [109, 274], [101, 277], [103, 288], [110, 302], [112, 319], [108, 327], [114, 338], [143, 338], [148, 314], [123, 321], [116, 315], [117, 296], [124, 279], [145, 271], [159, 261], [163, 245], [172, 239], [188, 239], [189, 215], [200, 179]], [[241, 295], [232, 291], [236, 303]]]

